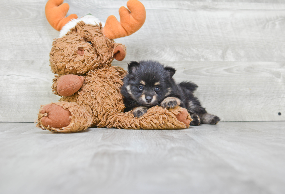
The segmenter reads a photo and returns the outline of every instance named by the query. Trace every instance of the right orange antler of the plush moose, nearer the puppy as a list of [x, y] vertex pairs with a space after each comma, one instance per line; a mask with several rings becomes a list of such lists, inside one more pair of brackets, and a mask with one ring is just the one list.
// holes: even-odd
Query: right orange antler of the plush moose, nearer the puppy
[[124, 6], [119, 9], [120, 22], [113, 15], [107, 18], [103, 34], [109, 39], [131, 35], [145, 23], [145, 7], [140, 1], [129, 0], [127, 7], [129, 10]]

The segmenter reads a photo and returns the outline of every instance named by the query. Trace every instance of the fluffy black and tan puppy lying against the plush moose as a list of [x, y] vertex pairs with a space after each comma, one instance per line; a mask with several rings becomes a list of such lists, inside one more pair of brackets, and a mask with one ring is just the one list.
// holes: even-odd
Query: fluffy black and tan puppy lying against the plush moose
[[126, 107], [124, 111], [132, 110], [135, 117], [141, 117], [152, 106], [181, 106], [187, 109], [193, 119], [190, 125], [217, 124], [220, 118], [207, 113], [193, 95], [198, 86], [191, 82], [176, 84], [172, 78], [175, 71], [153, 60], [129, 63], [128, 74], [121, 88]]

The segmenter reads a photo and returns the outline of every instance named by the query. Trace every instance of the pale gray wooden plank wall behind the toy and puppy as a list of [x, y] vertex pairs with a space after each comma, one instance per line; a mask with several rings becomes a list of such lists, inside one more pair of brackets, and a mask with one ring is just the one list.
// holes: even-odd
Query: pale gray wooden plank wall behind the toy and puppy
[[[65, 0], [68, 14], [119, 18], [127, 0]], [[193, 81], [206, 110], [222, 121], [285, 120], [285, 2], [282, 0], [141, 1], [143, 27], [117, 39], [132, 60], [153, 59]], [[47, 22], [46, 0], [0, 1], [0, 121], [33, 122], [41, 104], [56, 102], [49, 51], [59, 32]], [[281, 115], [278, 115], [281, 113]]]

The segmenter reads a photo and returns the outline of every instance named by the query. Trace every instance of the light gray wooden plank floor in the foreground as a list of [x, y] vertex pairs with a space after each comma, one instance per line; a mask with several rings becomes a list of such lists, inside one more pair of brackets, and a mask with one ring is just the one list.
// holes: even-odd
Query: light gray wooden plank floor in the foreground
[[285, 193], [285, 122], [56, 134], [0, 122], [0, 193]]

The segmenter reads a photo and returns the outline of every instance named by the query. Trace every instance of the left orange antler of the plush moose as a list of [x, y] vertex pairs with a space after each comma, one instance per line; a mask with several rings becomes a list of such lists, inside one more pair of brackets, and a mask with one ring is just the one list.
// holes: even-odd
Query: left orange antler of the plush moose
[[76, 14], [65, 17], [69, 10], [69, 5], [67, 3], [62, 3], [63, 0], [49, 0], [45, 8], [47, 21], [57, 31], [60, 31], [71, 19], [77, 18]]

